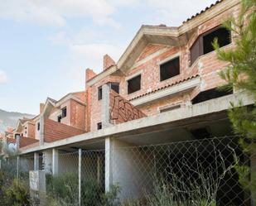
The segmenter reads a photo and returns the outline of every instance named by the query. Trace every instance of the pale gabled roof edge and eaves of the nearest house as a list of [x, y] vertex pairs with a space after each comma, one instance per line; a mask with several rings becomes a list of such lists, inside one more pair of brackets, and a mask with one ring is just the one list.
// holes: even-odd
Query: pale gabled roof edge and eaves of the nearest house
[[[125, 70], [126, 68], [130, 68], [131, 64], [129, 63], [131, 63], [131, 61], [134, 61], [136, 59], [138, 53], [140, 52], [139, 48], [143, 46], [147, 46], [148, 43], [167, 44], [167, 45], [174, 46], [175, 44], [181, 44], [180, 42], [188, 41], [187, 36], [189, 36], [190, 33], [193, 33], [191, 28], [195, 25], [192, 24], [192, 25], [186, 26], [184, 24], [186, 22], [190, 22], [193, 18], [208, 11], [210, 8], [215, 7], [217, 4], [220, 4], [220, 2], [225, 2], [225, 7], [233, 7], [235, 4], [239, 3], [239, 0], [218, 0], [215, 3], [212, 3], [209, 7], [205, 7], [205, 9], [196, 13], [192, 17], [187, 18], [187, 20], [183, 22], [181, 26], [178, 26], [178, 27], [165, 26], [165, 25], [159, 25], [159, 26], [142, 25], [141, 28], [138, 30], [137, 34], [134, 36], [133, 41], [128, 45], [126, 50], [123, 52], [123, 55], [118, 60], [117, 64], [109, 67], [109, 69], [112, 70], [111, 74], [116, 72], [118, 69]], [[218, 13], [218, 10], [215, 11], [216, 15], [217, 13]], [[109, 69], [105, 69], [104, 71], [101, 71], [99, 74], [96, 74], [93, 78], [89, 79], [87, 83], [89, 83], [89, 85], [92, 85], [95, 82], [97, 82], [99, 79], [104, 78], [104, 74], [109, 75], [109, 71], [108, 71]]]

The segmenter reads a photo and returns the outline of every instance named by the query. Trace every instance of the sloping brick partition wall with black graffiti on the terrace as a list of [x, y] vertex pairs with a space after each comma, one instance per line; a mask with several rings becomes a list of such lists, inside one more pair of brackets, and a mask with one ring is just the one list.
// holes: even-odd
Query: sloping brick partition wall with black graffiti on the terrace
[[140, 109], [133, 106], [113, 90], [109, 94], [109, 117], [114, 124], [128, 122], [134, 119], [146, 117]]

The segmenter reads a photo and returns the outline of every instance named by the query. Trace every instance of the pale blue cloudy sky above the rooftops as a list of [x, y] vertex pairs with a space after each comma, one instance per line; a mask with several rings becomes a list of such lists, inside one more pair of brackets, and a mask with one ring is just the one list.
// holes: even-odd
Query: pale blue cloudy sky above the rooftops
[[118, 61], [142, 25], [180, 26], [216, 0], [0, 0], [0, 109], [39, 113]]

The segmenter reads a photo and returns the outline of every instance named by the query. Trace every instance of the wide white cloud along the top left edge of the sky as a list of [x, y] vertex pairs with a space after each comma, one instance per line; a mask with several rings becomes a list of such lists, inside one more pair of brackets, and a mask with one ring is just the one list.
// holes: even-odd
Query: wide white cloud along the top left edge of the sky
[[72, 17], [114, 25], [117, 23], [110, 18], [114, 10], [106, 0], [0, 0], [0, 17], [54, 26], [65, 26]]

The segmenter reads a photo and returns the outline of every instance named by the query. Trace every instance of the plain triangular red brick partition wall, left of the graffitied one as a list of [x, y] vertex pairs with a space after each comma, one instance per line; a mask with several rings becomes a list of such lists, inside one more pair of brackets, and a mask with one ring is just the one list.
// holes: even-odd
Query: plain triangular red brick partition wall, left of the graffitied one
[[55, 122], [51, 119], [45, 119], [44, 121], [44, 141], [46, 142], [62, 140], [83, 133], [85, 131]]

